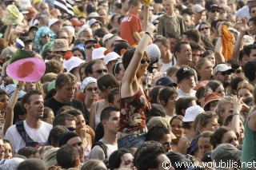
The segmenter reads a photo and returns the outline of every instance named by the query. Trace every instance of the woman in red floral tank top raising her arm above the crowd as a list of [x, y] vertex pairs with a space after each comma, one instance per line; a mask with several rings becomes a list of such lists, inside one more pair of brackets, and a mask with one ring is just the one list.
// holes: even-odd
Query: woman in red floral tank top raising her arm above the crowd
[[137, 148], [146, 140], [146, 114], [150, 111], [150, 102], [142, 88], [142, 77], [147, 73], [150, 63], [145, 49], [154, 30], [155, 26], [150, 24], [137, 48], [127, 50], [122, 57], [126, 71], [120, 90], [118, 148]]

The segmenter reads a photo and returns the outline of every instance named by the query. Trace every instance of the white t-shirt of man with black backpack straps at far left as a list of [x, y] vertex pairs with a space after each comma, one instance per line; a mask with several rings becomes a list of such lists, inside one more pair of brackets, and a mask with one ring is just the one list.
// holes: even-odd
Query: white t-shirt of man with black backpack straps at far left
[[[44, 121], [41, 121], [41, 127], [38, 129], [30, 128], [26, 121], [23, 121], [24, 128], [26, 133], [30, 138], [38, 143], [46, 142], [48, 139], [50, 130], [53, 128], [52, 125], [47, 124]], [[16, 125], [10, 126], [10, 128], [6, 131], [5, 138], [10, 140], [10, 143], [13, 147], [13, 152], [17, 153], [20, 148], [24, 148], [26, 146], [25, 141], [22, 139], [22, 136], [19, 134]]]

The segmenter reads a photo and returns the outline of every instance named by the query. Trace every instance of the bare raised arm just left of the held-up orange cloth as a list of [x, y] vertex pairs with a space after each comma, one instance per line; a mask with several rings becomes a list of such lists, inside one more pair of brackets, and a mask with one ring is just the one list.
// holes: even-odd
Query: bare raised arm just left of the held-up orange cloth
[[225, 62], [225, 58], [222, 54], [222, 23], [218, 26], [218, 40], [216, 42], [214, 53], [216, 57], [216, 63]]

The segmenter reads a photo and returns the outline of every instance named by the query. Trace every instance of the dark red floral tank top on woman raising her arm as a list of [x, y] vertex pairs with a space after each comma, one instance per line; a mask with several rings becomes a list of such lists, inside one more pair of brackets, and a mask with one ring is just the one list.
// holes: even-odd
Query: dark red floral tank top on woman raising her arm
[[138, 89], [132, 97], [120, 100], [120, 121], [118, 132], [132, 133], [146, 128], [146, 114], [150, 112], [150, 97]]

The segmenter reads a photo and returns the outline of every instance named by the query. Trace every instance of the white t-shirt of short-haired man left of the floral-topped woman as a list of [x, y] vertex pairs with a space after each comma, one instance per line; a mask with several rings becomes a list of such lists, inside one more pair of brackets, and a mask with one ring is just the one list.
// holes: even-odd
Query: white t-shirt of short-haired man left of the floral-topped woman
[[[101, 141], [103, 144], [106, 144], [106, 155], [107, 155], [107, 160], [110, 159], [110, 155], [115, 152], [116, 150], [118, 150], [118, 144], [110, 144], [108, 143], [106, 140], [99, 140]], [[94, 148], [91, 149], [90, 151], [90, 160], [105, 160], [105, 154], [103, 149], [96, 145], [94, 146]]]

